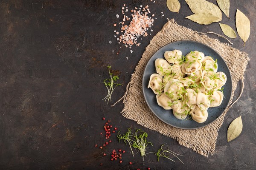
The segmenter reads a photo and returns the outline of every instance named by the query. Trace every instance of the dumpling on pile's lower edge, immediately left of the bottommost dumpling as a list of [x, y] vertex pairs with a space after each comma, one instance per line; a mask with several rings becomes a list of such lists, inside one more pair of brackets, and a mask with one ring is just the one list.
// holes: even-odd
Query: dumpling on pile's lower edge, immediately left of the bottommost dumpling
[[185, 119], [190, 109], [181, 100], [176, 100], [172, 102], [172, 111], [177, 119]]

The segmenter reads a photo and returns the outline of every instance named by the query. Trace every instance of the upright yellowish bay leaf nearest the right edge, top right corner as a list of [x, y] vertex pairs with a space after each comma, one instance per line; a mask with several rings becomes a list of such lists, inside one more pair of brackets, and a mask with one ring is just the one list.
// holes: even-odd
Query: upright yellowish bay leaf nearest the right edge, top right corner
[[239, 9], [236, 10], [236, 29], [245, 45], [250, 36], [250, 20]]

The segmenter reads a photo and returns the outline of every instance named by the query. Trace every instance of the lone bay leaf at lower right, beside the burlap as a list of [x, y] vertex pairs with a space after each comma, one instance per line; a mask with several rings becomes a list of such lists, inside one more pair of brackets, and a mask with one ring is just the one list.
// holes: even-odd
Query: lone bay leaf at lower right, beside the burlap
[[236, 139], [236, 137], [240, 135], [242, 129], [243, 129], [242, 118], [241, 116], [239, 116], [238, 118], [236, 118], [230, 123], [227, 129], [227, 142], [230, 142], [233, 139]]

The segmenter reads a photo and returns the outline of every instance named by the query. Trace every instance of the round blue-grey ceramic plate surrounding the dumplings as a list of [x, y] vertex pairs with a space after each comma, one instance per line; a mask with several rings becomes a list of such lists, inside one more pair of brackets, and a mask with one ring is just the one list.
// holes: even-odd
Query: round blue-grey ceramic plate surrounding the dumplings
[[[172, 110], [164, 110], [157, 104], [156, 94], [154, 94], [151, 88], [148, 88], [150, 75], [156, 73], [154, 61], [157, 58], [164, 58], [163, 54], [165, 51], [172, 51], [175, 49], [182, 51], [182, 55], [186, 55], [190, 51], [200, 51], [203, 52], [205, 56], [211, 56], [214, 59], [218, 59], [218, 71], [222, 71], [227, 75], [227, 82], [223, 86], [225, 98], [223, 99], [220, 106], [208, 109], [208, 119], [204, 123], [198, 123], [190, 119], [187, 119], [186, 121], [177, 119], [173, 115]], [[145, 67], [142, 83], [145, 101], [148, 104], [148, 107], [151, 109], [151, 111], [166, 124], [180, 129], [198, 129], [214, 122], [219, 116], [221, 116], [221, 114], [226, 109], [230, 101], [230, 96], [232, 92], [232, 81], [230, 71], [224, 59], [222, 59], [222, 57], [209, 46], [195, 41], [176, 41], [160, 48], [151, 57], [151, 59], [149, 59], [148, 64]]]

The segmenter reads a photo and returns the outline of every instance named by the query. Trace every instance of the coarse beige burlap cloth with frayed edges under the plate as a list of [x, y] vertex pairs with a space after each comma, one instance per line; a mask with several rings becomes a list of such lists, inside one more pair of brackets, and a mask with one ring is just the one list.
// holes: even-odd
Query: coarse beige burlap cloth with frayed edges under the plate
[[180, 145], [192, 148], [195, 152], [208, 157], [209, 153], [211, 155], [214, 153], [218, 129], [221, 127], [224, 116], [230, 107], [227, 107], [224, 114], [215, 122], [206, 127], [196, 130], [182, 130], [169, 126], [158, 119], [148, 108], [143, 97], [142, 77], [148, 60], [159, 48], [178, 40], [193, 40], [204, 43], [215, 49], [223, 57], [230, 69], [233, 81], [233, 91], [229, 105], [232, 103], [237, 83], [243, 78], [247, 61], [249, 60], [247, 54], [230, 47], [227, 43], [221, 43], [217, 39], [197, 34], [189, 28], [178, 25], [172, 19], [163, 26], [163, 29], [154, 36], [146, 47], [140, 62], [131, 76], [131, 82], [127, 86], [127, 91], [122, 97], [124, 109], [121, 113], [125, 118], [132, 119], [144, 127], [176, 139]]

